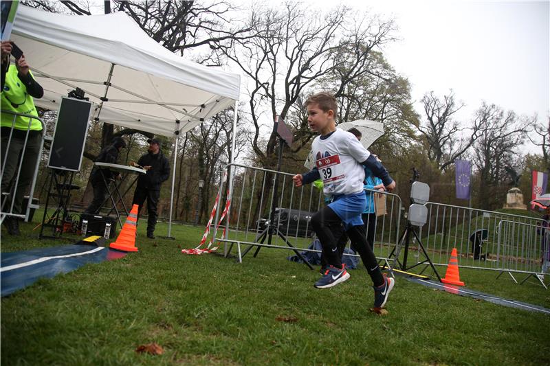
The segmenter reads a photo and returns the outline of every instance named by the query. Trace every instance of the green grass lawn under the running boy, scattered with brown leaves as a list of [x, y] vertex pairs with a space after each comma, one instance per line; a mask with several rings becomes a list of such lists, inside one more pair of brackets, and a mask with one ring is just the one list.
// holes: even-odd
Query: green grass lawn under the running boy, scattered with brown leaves
[[[37, 220], [37, 219], [36, 219]], [[1, 250], [60, 244], [2, 228]], [[1, 299], [2, 365], [544, 365], [550, 317], [450, 295], [397, 278], [386, 317], [369, 312], [364, 270], [331, 290], [317, 271], [262, 249], [243, 264], [192, 256], [202, 228], [177, 225], [173, 240], [44, 279]], [[157, 235], [166, 233], [160, 224]], [[74, 242], [76, 238], [64, 242]], [[443, 272], [443, 268], [441, 268]], [[550, 291], [496, 273], [461, 269], [469, 288], [550, 307]], [[297, 319], [294, 323], [278, 317]], [[156, 342], [164, 354], [136, 354]]]

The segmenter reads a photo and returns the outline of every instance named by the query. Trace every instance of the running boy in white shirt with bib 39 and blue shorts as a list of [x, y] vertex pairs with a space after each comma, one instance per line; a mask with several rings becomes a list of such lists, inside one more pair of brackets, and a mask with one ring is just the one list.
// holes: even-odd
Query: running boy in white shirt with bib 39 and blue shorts
[[336, 240], [331, 227], [343, 223], [351, 242], [355, 244], [366, 270], [369, 272], [375, 289], [374, 308], [386, 304], [388, 294], [395, 280], [382, 276], [373, 250], [366, 242], [361, 214], [366, 207], [363, 190], [365, 179], [364, 166], [375, 176], [382, 179], [386, 189], [395, 188], [386, 168], [373, 157], [351, 133], [336, 128], [338, 110], [336, 98], [330, 93], [311, 95], [305, 103], [308, 124], [320, 136], [311, 146], [316, 158], [316, 168], [306, 174], [296, 174], [293, 179], [296, 187], [321, 178], [325, 196], [333, 198], [332, 203], [323, 207], [311, 218], [311, 225], [321, 242], [323, 255], [329, 268], [325, 275], [315, 283], [316, 288], [330, 288], [349, 278], [342, 266]]

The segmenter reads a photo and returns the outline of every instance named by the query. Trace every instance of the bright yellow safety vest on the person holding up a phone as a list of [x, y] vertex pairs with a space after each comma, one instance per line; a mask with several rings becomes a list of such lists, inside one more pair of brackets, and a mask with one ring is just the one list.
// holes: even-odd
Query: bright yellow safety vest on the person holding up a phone
[[[10, 65], [8, 72], [5, 73], [4, 89], [0, 93], [2, 111], [13, 111], [27, 115], [36, 115], [36, 117], [38, 117], [39, 113], [36, 111], [36, 107], [34, 106], [34, 100], [30, 95], [28, 95], [25, 84], [19, 80], [19, 77], [17, 76], [18, 72], [19, 71], [17, 71], [17, 67], [15, 67], [15, 65]], [[9, 113], [1, 113], [0, 126], [11, 128], [13, 124], [13, 117], [14, 115], [10, 115]], [[42, 130], [42, 124], [38, 119], [23, 117], [21, 115], [15, 117], [14, 128], [17, 130], [26, 131], [29, 126], [30, 119], [32, 120], [30, 130]]]

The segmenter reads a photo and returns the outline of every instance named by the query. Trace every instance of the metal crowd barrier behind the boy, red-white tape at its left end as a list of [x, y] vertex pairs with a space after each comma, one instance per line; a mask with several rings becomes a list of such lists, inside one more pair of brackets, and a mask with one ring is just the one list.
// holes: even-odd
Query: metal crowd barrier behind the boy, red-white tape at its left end
[[[294, 187], [294, 181], [292, 181], [294, 174], [290, 173], [240, 164], [230, 164], [228, 170], [229, 176], [233, 176], [230, 220], [225, 221], [223, 237], [221, 231], [214, 233], [219, 242], [225, 243], [226, 256], [232, 250], [233, 244], [237, 245], [239, 262], [242, 262], [243, 258], [241, 245], [247, 248], [252, 246], [289, 250], [286, 242], [277, 234], [272, 236], [271, 244], [259, 242], [259, 236], [272, 220], [276, 221], [276, 227], [299, 251], [319, 252], [308, 247], [314, 238], [311, 216], [325, 205], [324, 196], [320, 190], [314, 185]], [[279, 179], [278, 192], [273, 190], [276, 177]], [[377, 216], [373, 224], [375, 225], [373, 249], [377, 257], [387, 258], [399, 238], [401, 198], [388, 192], [371, 191], [369, 193], [386, 196], [387, 214]], [[276, 211], [272, 214], [274, 199], [277, 200]]]

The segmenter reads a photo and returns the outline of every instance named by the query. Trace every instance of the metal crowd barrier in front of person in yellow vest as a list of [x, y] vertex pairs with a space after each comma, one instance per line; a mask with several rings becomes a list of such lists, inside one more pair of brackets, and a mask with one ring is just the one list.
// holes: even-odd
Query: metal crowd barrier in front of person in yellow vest
[[[8, 137], [8, 144], [6, 144], [6, 146], [1, 146], [0, 147], [3, 150], [5, 149], [6, 156], [7, 156], [8, 149], [10, 148], [10, 144], [12, 143], [12, 135], [13, 135], [13, 130], [14, 130], [14, 126], [15, 126], [15, 119], [17, 118], [17, 116], [28, 117], [29, 118], [29, 124], [27, 126], [27, 131], [26, 131], [26, 135], [25, 135], [25, 142], [23, 144], [23, 153], [19, 157], [19, 162], [17, 164], [17, 174], [14, 176], [12, 184], [10, 185], [10, 192], [1, 192], [1, 194], [2, 194], [2, 205], [1, 205], [1, 211], [0, 211], [0, 222], [3, 222], [4, 218], [6, 218], [7, 216], [12, 216], [12, 217], [16, 217], [16, 218], [23, 218], [25, 221], [28, 221], [31, 209], [39, 208], [38, 205], [34, 205], [32, 203], [32, 198], [33, 198], [33, 194], [34, 194], [34, 187], [36, 185], [36, 176], [38, 175], [38, 172], [39, 172], [39, 166], [40, 166], [40, 161], [41, 161], [41, 157], [42, 157], [42, 149], [43, 149], [43, 146], [44, 146], [46, 126], [45, 126], [45, 124], [44, 124], [44, 122], [41, 118], [36, 117], [34, 115], [27, 115], [27, 114], [23, 114], [23, 113], [15, 113], [15, 112], [12, 112], [12, 111], [3, 111], [3, 110], [1, 111], [1, 113], [6, 113], [6, 114], [13, 115], [10, 135]], [[21, 174], [21, 165], [23, 163], [23, 155], [24, 155], [24, 152], [27, 148], [27, 142], [28, 142], [28, 137], [29, 137], [29, 132], [30, 132], [30, 126], [32, 124], [32, 119], [38, 119], [40, 121], [40, 123], [42, 124], [43, 133], [42, 133], [42, 139], [41, 139], [41, 143], [40, 143], [40, 153], [39, 153], [38, 159], [36, 159], [36, 167], [34, 168], [34, 174], [32, 176], [32, 181], [31, 181], [31, 184], [30, 184], [28, 205], [27, 205], [27, 209], [25, 211], [25, 214], [15, 214], [13, 212], [14, 200], [13, 199], [7, 200], [6, 198], [8, 198], [8, 197], [13, 198], [15, 196], [15, 194], [17, 193], [17, 185], [19, 183], [19, 175]], [[1, 170], [1, 179], [2, 180], [3, 180], [3, 176], [4, 176], [6, 161], [7, 161], [7, 159], [4, 159], [4, 161], [1, 162], [1, 168], [2, 168], [2, 170]], [[8, 201], [10, 201], [11, 204], [7, 205], [8, 207], [4, 207], [5, 203], [8, 202]]]

